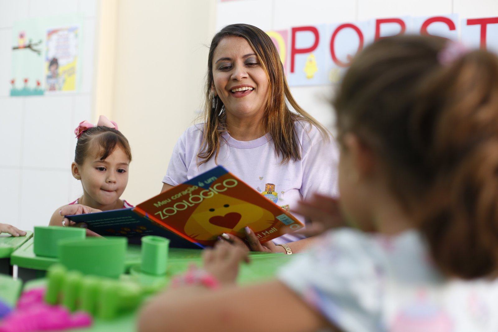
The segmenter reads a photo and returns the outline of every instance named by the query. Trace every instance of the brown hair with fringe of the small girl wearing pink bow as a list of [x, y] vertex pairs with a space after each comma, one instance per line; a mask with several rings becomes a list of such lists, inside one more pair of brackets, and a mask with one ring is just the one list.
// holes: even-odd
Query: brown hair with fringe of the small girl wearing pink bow
[[128, 140], [121, 131], [100, 125], [88, 128], [78, 138], [74, 152], [75, 163], [83, 165], [91, 144], [100, 146], [100, 160], [105, 160], [119, 146], [128, 157], [128, 161], [131, 161], [131, 149]]

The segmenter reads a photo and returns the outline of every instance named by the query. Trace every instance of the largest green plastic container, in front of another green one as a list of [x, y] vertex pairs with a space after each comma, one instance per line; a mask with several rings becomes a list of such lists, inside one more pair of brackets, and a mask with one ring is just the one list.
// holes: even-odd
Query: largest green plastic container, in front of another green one
[[60, 240], [59, 260], [68, 270], [119, 278], [124, 273], [126, 246], [125, 237]]

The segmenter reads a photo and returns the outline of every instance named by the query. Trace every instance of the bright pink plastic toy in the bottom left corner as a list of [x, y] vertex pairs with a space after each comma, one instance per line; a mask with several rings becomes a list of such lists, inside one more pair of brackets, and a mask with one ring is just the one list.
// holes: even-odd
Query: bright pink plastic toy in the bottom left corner
[[63, 331], [92, 325], [92, 317], [79, 312], [73, 315], [62, 306], [43, 302], [45, 289], [23, 292], [17, 308], [5, 316], [0, 332]]

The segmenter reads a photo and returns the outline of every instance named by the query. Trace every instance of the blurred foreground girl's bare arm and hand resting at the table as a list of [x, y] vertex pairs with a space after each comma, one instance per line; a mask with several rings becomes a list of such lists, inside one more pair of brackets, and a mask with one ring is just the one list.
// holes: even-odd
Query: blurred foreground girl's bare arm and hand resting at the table
[[316, 331], [329, 323], [280, 281], [235, 285], [238, 265], [247, 259], [227, 243], [204, 251], [204, 266], [219, 289], [185, 285], [169, 289], [142, 310], [139, 331], [274, 332]]

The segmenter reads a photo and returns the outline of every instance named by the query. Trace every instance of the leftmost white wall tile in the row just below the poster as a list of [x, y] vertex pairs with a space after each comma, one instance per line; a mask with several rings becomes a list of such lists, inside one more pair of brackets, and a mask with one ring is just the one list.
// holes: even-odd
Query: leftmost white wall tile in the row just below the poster
[[0, 97], [0, 167], [21, 166], [23, 104], [22, 99]]

